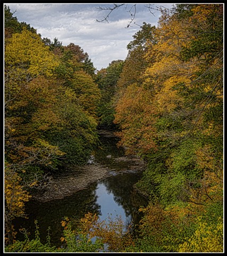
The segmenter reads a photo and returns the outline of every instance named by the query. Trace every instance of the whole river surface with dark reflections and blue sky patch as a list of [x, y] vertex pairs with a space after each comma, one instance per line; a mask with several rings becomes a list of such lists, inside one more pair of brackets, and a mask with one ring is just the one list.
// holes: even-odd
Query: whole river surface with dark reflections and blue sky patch
[[[26, 228], [31, 233], [31, 239], [35, 234], [34, 221], [37, 220], [41, 242], [46, 242], [47, 229], [50, 227], [51, 244], [60, 247], [63, 231], [61, 221], [64, 217], [81, 219], [86, 213], [91, 212], [96, 213], [100, 220], [121, 217], [126, 226], [139, 222], [141, 213], [138, 209], [147, 205], [146, 199], [133, 188], [141, 177], [141, 166], [137, 170], [136, 167], [131, 168], [129, 162], [121, 161], [125, 160], [124, 150], [116, 147], [117, 138], [102, 135], [100, 142], [90, 164], [95, 162], [106, 166], [111, 170], [111, 175], [62, 199], [28, 202], [28, 219], [17, 218], [14, 221], [15, 230], [19, 230], [20, 227]], [[18, 239], [23, 239], [20, 231]]]

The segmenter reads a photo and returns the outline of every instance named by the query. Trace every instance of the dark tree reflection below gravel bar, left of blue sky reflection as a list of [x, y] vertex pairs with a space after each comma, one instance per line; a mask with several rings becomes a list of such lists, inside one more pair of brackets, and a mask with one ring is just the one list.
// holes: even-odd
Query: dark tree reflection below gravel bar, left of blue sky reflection
[[[45, 203], [30, 201], [26, 206], [29, 219], [17, 218], [14, 223], [15, 228], [20, 228], [21, 226], [26, 228], [31, 233], [31, 237], [33, 237], [35, 234], [34, 221], [38, 220], [41, 242], [46, 242], [47, 229], [51, 227], [51, 243], [60, 246], [60, 238], [63, 231], [61, 221], [64, 217], [81, 219], [88, 212], [100, 214], [100, 205], [96, 203], [96, 188], [97, 183], [94, 183], [89, 188], [78, 191], [78, 193], [63, 199]], [[20, 232], [18, 238], [24, 238], [20, 235]]]

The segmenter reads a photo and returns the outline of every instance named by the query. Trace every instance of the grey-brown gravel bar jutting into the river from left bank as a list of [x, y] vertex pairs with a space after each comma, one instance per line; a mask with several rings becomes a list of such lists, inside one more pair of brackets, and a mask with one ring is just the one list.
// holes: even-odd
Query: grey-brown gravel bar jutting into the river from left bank
[[[110, 156], [106, 156], [110, 157]], [[113, 162], [126, 163], [124, 169], [116, 170], [99, 164], [92, 163], [84, 166], [75, 166], [58, 177], [51, 177], [46, 188], [37, 191], [33, 199], [39, 202], [47, 202], [54, 199], [62, 199], [81, 189], [87, 188], [91, 183], [105, 179], [112, 175], [120, 175], [129, 172], [141, 172], [145, 169], [145, 162], [137, 156], [116, 157]]]

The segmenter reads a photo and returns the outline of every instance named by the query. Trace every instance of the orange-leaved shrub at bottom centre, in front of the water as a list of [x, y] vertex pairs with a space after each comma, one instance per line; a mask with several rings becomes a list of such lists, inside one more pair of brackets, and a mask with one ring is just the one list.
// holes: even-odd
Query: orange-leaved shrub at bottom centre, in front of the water
[[132, 236], [124, 229], [120, 217], [112, 219], [109, 216], [107, 220], [100, 221], [96, 214], [88, 212], [81, 218], [79, 226], [77, 222], [77, 229], [72, 228], [73, 220], [69, 218], [65, 218], [61, 223], [64, 227], [64, 236], [60, 239], [69, 247], [74, 247], [73, 252], [78, 252], [78, 248], [83, 243], [87, 249], [87, 246], [95, 245], [98, 241], [98, 246], [101, 246], [100, 250], [107, 250], [107, 252], [124, 252], [128, 246], [134, 246]]

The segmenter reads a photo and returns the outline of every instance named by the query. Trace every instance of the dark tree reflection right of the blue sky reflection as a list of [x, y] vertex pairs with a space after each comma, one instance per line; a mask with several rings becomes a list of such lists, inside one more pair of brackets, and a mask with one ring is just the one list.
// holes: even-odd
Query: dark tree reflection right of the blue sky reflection
[[109, 193], [114, 195], [114, 201], [122, 206], [125, 215], [131, 215], [132, 222], [138, 223], [141, 215], [138, 210], [140, 206], [145, 206], [147, 201], [133, 189], [133, 185], [139, 180], [139, 175], [127, 173], [119, 174], [103, 180]]

